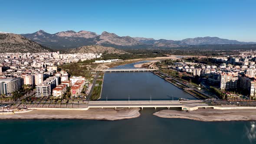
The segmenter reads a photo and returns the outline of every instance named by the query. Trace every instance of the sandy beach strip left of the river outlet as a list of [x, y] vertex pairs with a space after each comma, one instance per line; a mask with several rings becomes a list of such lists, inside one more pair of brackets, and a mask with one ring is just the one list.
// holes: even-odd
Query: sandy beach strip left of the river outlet
[[90, 108], [80, 110], [33, 110], [15, 115], [0, 115], [0, 119], [94, 119], [94, 120], [121, 120], [137, 118], [140, 108]]

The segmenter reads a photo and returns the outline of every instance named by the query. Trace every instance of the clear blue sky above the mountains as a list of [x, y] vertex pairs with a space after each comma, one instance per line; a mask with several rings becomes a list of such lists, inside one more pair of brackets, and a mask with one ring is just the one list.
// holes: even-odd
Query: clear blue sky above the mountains
[[0, 0], [0, 31], [256, 42], [256, 0]]

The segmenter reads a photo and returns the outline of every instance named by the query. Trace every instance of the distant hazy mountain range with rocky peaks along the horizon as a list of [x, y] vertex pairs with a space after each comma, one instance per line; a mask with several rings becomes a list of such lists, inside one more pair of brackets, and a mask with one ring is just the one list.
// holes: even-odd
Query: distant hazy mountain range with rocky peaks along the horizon
[[98, 35], [89, 31], [75, 32], [72, 30], [59, 33], [46, 33], [39, 30], [35, 33], [21, 34], [43, 46], [51, 49], [70, 49], [89, 45], [112, 46], [115, 48], [171, 48], [186, 45], [218, 45], [218, 44], [256, 44], [254, 42], [239, 42], [237, 40], [218, 37], [196, 37], [183, 40], [151, 39], [130, 36], [118, 36], [115, 33], [103, 32]]

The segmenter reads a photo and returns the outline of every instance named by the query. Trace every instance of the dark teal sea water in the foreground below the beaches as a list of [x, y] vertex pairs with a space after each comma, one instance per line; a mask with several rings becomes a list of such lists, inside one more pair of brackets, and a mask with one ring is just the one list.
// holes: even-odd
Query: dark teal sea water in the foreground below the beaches
[[158, 118], [154, 111], [121, 121], [1, 120], [1, 144], [256, 144], [253, 121]]

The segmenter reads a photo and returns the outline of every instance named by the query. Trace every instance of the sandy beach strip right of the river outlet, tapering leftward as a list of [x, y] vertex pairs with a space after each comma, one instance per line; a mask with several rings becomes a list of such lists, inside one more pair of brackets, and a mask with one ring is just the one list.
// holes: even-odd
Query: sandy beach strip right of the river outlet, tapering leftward
[[255, 109], [216, 110], [199, 108], [196, 111], [161, 110], [155, 112], [161, 118], [185, 118], [196, 121], [253, 121], [256, 120]]

